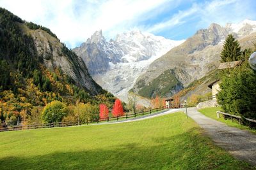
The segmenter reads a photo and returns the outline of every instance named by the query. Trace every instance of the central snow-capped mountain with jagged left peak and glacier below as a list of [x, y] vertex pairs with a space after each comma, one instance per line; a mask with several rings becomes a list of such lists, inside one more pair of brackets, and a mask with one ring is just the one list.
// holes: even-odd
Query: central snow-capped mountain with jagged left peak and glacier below
[[74, 52], [83, 58], [97, 83], [126, 101], [129, 90], [148, 65], [182, 42], [141, 31], [118, 34], [115, 40], [106, 41], [102, 31], [96, 31]]

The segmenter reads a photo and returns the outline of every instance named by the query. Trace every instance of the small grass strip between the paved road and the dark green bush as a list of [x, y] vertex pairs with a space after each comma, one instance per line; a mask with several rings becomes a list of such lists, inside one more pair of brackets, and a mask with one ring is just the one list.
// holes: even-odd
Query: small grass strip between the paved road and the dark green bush
[[218, 120], [220, 122], [223, 122], [223, 123], [225, 123], [229, 126], [237, 127], [239, 129], [245, 129], [245, 130], [248, 130], [248, 131], [253, 132], [254, 134], [256, 134], [256, 129], [250, 129], [248, 126], [241, 125], [235, 119], [233, 121], [230, 120], [230, 119], [225, 120], [222, 115], [218, 119], [216, 111], [219, 111], [219, 110], [221, 111], [220, 107], [215, 107], [215, 108], [204, 108], [204, 109], [201, 109], [201, 110], [198, 110], [198, 111], [200, 111], [200, 113], [203, 113], [207, 117], [210, 117], [210, 118], [213, 118], [213, 119]]

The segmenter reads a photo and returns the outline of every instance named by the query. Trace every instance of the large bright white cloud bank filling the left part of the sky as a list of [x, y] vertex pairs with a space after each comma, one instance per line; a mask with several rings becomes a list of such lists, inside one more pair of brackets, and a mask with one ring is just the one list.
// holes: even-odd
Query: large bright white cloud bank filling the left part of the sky
[[168, 0], [0, 0], [0, 6], [22, 19], [49, 27], [61, 41], [74, 47], [102, 29], [106, 36], [134, 27], [141, 15]]

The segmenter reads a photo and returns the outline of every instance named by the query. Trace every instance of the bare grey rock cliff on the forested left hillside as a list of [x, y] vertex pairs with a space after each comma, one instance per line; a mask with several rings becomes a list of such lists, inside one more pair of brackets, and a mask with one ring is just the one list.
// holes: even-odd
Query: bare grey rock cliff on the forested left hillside
[[31, 30], [20, 24], [24, 32], [30, 34], [34, 40], [38, 55], [44, 59], [47, 69], [61, 68], [77, 85], [84, 87], [91, 94], [99, 94], [102, 88], [92, 79], [81, 57], [68, 50], [59, 39], [51, 36], [42, 29]]

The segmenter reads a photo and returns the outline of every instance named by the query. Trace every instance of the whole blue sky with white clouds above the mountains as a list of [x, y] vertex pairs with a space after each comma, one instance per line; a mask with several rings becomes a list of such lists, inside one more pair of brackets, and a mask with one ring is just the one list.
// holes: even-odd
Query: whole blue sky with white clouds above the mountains
[[106, 39], [139, 29], [180, 40], [212, 22], [256, 20], [255, 0], [0, 0], [0, 6], [48, 27], [69, 48], [99, 30]]

